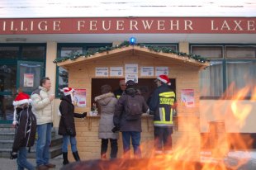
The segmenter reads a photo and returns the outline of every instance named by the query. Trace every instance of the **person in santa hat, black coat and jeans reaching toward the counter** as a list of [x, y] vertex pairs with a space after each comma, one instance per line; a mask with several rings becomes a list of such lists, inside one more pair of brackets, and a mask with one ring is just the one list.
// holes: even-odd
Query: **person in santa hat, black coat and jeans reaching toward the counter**
[[74, 89], [72, 87], [64, 87], [62, 90], [64, 92], [64, 96], [60, 97], [60, 120], [59, 120], [59, 135], [63, 135], [63, 144], [62, 144], [62, 154], [63, 154], [63, 164], [68, 164], [68, 145], [69, 141], [71, 144], [71, 150], [73, 153], [73, 158], [76, 161], [80, 161], [78, 149], [77, 149], [77, 140], [75, 124], [73, 117], [84, 118], [87, 116], [86, 112], [83, 114], [75, 113], [73, 106], [73, 92]]

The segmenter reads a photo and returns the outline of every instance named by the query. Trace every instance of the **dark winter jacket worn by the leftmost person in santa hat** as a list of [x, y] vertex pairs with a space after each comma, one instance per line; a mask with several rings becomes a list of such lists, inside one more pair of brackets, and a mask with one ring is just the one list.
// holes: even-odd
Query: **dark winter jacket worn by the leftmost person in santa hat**
[[31, 147], [36, 139], [36, 116], [31, 111], [31, 106], [24, 109], [17, 108], [17, 128], [12, 145], [12, 152], [17, 152], [21, 147]]

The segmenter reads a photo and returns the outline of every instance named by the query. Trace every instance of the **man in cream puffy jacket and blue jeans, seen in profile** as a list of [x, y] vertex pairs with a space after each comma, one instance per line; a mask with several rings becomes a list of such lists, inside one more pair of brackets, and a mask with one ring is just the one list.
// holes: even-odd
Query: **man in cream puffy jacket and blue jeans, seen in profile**
[[42, 78], [38, 89], [31, 94], [32, 111], [36, 115], [37, 122], [36, 168], [39, 170], [55, 168], [55, 164], [49, 163], [53, 122], [51, 102], [55, 98], [54, 95], [49, 94], [50, 87], [50, 78]]

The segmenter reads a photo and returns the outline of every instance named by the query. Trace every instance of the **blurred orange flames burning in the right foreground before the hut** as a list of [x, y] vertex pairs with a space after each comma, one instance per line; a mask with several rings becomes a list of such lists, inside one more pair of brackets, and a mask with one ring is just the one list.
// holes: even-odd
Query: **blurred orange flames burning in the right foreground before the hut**
[[[175, 139], [173, 140], [173, 153], [163, 153], [156, 156], [153, 148], [154, 141], [147, 140], [141, 144], [141, 149], [146, 150], [142, 155], [143, 158], [130, 159], [129, 155], [125, 155], [122, 159], [110, 161], [107, 168], [103, 169], [238, 169], [248, 162], [248, 158], [237, 159], [235, 165], [230, 165], [225, 161], [230, 151], [247, 151], [253, 142], [249, 135], [242, 136], [239, 133], [230, 133], [237, 132], [244, 127], [245, 121], [253, 109], [252, 102], [256, 100], [256, 87], [252, 90], [251, 101], [244, 102], [243, 100], [244, 94], [247, 94], [251, 89], [251, 87], [244, 87], [233, 95], [234, 97], [231, 100], [220, 99], [216, 101], [216, 105], [212, 107], [215, 113], [213, 119], [220, 121], [211, 121], [210, 131], [206, 133], [205, 137], [202, 138], [199, 128], [199, 119], [203, 119], [202, 117], [190, 116], [189, 114], [179, 116], [178, 122], [183, 122], [183, 124], [179, 125], [178, 131], [174, 131], [172, 135], [173, 139]], [[234, 92], [234, 84], [229, 87], [225, 94], [229, 94], [229, 90]], [[210, 107], [205, 106], [204, 109], [210, 110]], [[229, 133], [227, 134], [226, 132]], [[107, 162], [102, 161], [99, 163], [104, 164]], [[98, 165], [98, 163], [97, 166], [104, 167], [103, 165]]]

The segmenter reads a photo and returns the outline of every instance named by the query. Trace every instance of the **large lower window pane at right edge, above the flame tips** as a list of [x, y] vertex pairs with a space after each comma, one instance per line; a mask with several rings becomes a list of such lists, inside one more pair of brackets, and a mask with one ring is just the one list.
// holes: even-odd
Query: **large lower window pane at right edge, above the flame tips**
[[244, 97], [251, 97], [256, 84], [256, 61], [226, 62], [227, 95], [232, 97], [244, 89]]

